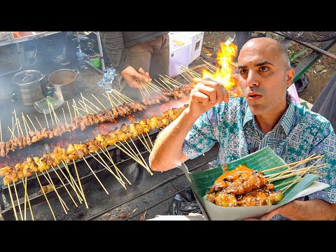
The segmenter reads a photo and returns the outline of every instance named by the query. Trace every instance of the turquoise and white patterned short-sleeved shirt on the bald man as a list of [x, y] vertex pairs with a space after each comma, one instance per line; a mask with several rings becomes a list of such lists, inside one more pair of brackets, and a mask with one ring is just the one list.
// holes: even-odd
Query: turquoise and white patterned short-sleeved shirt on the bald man
[[[318, 113], [293, 102], [288, 94], [287, 103], [288, 109], [267, 134], [256, 125], [245, 98], [216, 104], [197, 119], [183, 143], [183, 153], [193, 159], [218, 142], [218, 158], [212, 167], [228, 164], [265, 146], [271, 147], [286, 163], [313, 153], [322, 154], [325, 158], [321, 163], [329, 166], [321, 169], [323, 176], [319, 181], [330, 187], [309, 195], [309, 200], [318, 198], [336, 203], [336, 140], [332, 125]], [[314, 161], [297, 168], [312, 165]]]

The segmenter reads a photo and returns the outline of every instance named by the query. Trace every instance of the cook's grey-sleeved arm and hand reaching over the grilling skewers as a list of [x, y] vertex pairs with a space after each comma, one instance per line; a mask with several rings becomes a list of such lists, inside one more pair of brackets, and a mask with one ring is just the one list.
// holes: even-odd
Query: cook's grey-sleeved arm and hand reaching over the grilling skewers
[[105, 50], [116, 73], [120, 73], [131, 87], [139, 88], [139, 80], [151, 82], [149, 73], [139, 69], [139, 73], [127, 62], [123, 31], [101, 32]]

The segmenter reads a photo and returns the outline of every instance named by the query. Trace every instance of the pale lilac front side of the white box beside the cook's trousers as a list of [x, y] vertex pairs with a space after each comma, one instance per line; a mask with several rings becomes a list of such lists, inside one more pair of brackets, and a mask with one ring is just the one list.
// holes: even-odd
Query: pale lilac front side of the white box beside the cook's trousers
[[189, 66], [190, 42], [181, 45], [169, 39], [169, 43], [169, 76], [175, 77], [183, 72], [181, 65]]

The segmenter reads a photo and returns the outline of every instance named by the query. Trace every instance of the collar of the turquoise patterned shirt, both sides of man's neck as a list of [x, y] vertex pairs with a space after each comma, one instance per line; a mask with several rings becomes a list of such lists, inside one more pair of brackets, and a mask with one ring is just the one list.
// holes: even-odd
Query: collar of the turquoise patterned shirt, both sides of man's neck
[[[288, 109], [286, 110], [286, 112], [280, 118], [279, 124], [281, 125], [281, 127], [283, 127], [283, 130], [286, 132], [286, 134], [288, 134], [290, 132], [290, 128], [293, 125], [293, 120], [294, 120], [294, 117], [295, 117], [294, 101], [290, 97], [288, 92], [286, 94], [286, 102], [289, 106], [288, 106]], [[246, 123], [248, 123], [251, 120], [254, 121], [254, 116], [253, 116], [253, 113], [251, 112], [250, 108], [247, 105], [245, 117], [244, 117], [244, 120], [243, 120], [243, 127], [246, 125]]]

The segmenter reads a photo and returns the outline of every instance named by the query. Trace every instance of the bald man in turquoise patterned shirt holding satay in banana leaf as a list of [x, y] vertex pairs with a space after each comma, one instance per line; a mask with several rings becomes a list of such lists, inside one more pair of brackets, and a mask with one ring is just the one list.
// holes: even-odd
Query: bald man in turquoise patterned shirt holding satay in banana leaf
[[325, 156], [322, 162], [329, 165], [321, 181], [330, 187], [305, 201], [279, 207], [262, 219], [334, 220], [335, 132], [328, 120], [290, 98], [286, 89], [293, 83], [294, 69], [286, 48], [272, 38], [253, 38], [240, 50], [238, 70], [239, 85], [247, 97], [229, 100], [221, 83], [200, 80], [190, 92], [188, 108], [158, 135], [149, 157], [151, 169], [173, 169], [217, 142], [220, 148], [214, 167], [266, 146], [287, 163], [321, 154]]

